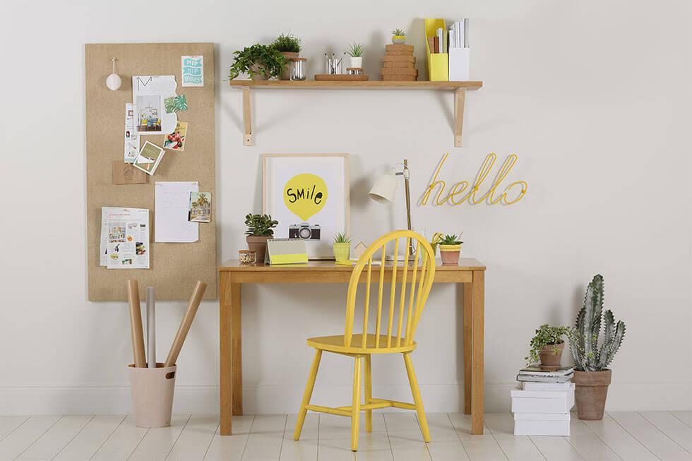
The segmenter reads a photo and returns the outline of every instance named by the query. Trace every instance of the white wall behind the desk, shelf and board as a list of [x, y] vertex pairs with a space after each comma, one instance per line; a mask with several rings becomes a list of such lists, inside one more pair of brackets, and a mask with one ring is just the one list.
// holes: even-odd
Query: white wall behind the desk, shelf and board
[[[256, 145], [243, 147], [241, 95], [219, 83], [219, 261], [244, 246], [246, 212], [261, 210], [263, 152], [349, 152], [352, 234], [365, 241], [403, 224], [366, 200], [387, 164], [407, 157], [419, 196], [444, 152], [447, 181], [470, 181], [489, 152], [516, 152], [508, 179], [529, 184], [520, 203], [413, 210], [419, 227], [463, 229], [467, 256], [487, 264], [487, 408], [508, 409], [533, 329], [571, 323], [595, 273], [627, 323], [609, 409], [692, 407], [688, 2], [111, 4], [15, 2], [3, 16], [0, 414], [129, 410], [125, 306], [86, 301], [85, 42], [215, 42], [221, 80], [235, 49], [291, 30], [310, 75], [323, 52], [357, 40], [375, 76], [395, 27], [409, 30], [423, 68], [424, 16], [471, 18], [472, 78], [484, 88], [467, 95], [465, 147], [453, 147], [451, 93], [338, 91], [257, 92]], [[304, 340], [342, 328], [344, 295], [340, 285], [244, 289], [248, 412], [296, 411]], [[435, 287], [419, 330], [429, 411], [461, 405], [459, 304], [453, 286]], [[164, 351], [184, 303], [159, 306]], [[217, 409], [217, 319], [206, 302], [179, 359], [177, 411]], [[350, 373], [328, 357], [316, 399], [347, 401]], [[407, 397], [400, 359], [376, 359], [374, 379], [380, 395]]]

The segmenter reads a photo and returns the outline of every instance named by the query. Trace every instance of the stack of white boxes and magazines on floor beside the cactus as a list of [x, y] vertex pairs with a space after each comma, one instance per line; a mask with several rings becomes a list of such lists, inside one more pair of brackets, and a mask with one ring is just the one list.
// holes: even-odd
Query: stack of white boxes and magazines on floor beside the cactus
[[512, 390], [515, 436], [568, 436], [574, 406], [574, 368], [554, 371], [529, 366], [520, 369]]

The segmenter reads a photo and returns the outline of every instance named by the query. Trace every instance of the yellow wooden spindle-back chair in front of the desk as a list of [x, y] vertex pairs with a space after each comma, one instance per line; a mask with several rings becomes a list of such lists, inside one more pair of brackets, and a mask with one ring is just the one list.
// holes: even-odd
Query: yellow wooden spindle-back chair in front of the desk
[[[404, 264], [397, 267], [397, 253], [399, 239], [405, 239]], [[387, 244], [394, 241], [395, 263], [391, 268], [391, 277], [385, 273]], [[415, 247], [415, 256], [410, 265], [410, 247]], [[381, 251], [381, 265], [373, 268], [373, 256]], [[419, 261], [420, 256], [420, 261]], [[377, 261], [377, 260], [376, 260]], [[420, 267], [419, 267], [420, 265]], [[363, 272], [366, 275], [363, 275]], [[377, 280], [377, 312], [374, 334], [368, 333], [370, 294], [372, 273], [379, 272]], [[398, 273], [401, 273], [399, 275]], [[399, 278], [400, 277], [400, 278]], [[293, 433], [294, 440], [299, 440], [303, 429], [303, 422], [308, 410], [351, 418], [351, 450], [358, 449], [358, 428], [360, 412], [365, 412], [365, 429], [372, 431], [372, 410], [386, 407], [414, 409], [418, 414], [423, 439], [430, 441], [430, 432], [425, 418], [423, 401], [418, 389], [418, 382], [413, 370], [410, 354], [416, 349], [413, 337], [420, 321], [421, 313], [428, 299], [430, 288], [435, 277], [435, 255], [432, 247], [426, 239], [419, 234], [398, 230], [380, 237], [359, 258], [356, 263], [351, 280], [348, 284], [346, 299], [346, 326], [345, 334], [338, 336], [311, 337], [308, 345], [316, 349], [312, 362], [308, 382], [305, 386], [303, 401], [300, 405], [296, 429]], [[362, 333], [354, 334], [354, 316], [356, 313], [356, 295], [359, 282], [365, 283], [365, 300], [363, 311]], [[387, 317], [382, 318], [383, 288], [386, 282], [390, 282], [389, 309]], [[398, 309], [395, 302], [397, 282], [400, 283]], [[374, 285], [375, 282], [372, 283]], [[407, 301], [408, 296], [408, 301]], [[396, 316], [395, 316], [395, 311]], [[405, 319], [405, 324], [404, 324]], [[386, 333], [384, 333], [386, 332]], [[403, 333], [403, 336], [402, 336]], [[317, 370], [322, 358], [322, 352], [334, 352], [347, 355], [355, 359], [353, 371], [353, 403], [347, 407], [321, 407], [310, 405], [310, 397], [315, 385]], [[371, 354], [403, 354], [406, 372], [411, 385], [414, 403], [397, 402], [395, 400], [376, 399], [372, 397]], [[365, 402], [361, 403], [361, 361], [365, 359]]]

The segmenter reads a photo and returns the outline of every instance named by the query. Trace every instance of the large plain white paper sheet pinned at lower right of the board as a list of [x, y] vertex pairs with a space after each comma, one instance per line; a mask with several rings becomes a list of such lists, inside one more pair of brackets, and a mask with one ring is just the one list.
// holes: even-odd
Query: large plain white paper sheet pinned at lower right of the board
[[199, 191], [198, 182], [157, 181], [154, 191], [154, 241], [198, 241], [199, 224], [188, 221], [190, 193]]

